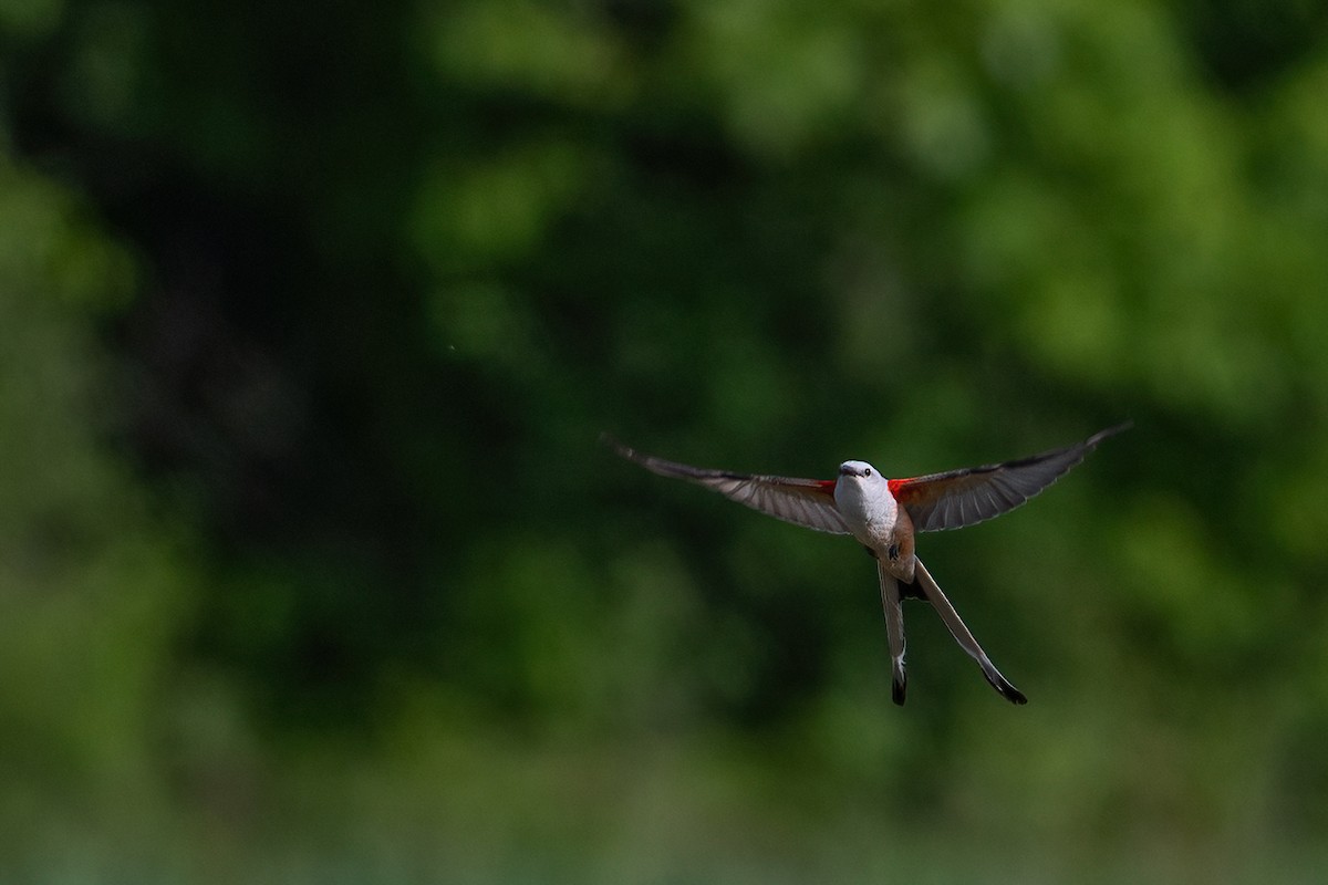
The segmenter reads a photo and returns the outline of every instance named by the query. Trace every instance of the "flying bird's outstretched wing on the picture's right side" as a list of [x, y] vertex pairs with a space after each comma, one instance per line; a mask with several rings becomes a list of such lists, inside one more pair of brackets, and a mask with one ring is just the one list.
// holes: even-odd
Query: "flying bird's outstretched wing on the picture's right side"
[[1000, 464], [891, 479], [890, 491], [919, 532], [972, 525], [1015, 510], [1084, 460], [1100, 442], [1129, 426], [1118, 425], [1081, 443]]

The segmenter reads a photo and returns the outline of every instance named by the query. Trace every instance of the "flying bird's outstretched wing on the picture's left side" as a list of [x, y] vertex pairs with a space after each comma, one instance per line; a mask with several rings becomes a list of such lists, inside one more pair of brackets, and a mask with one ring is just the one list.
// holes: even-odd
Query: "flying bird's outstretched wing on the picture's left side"
[[645, 470], [661, 476], [689, 479], [786, 523], [805, 525], [819, 532], [849, 533], [849, 527], [845, 525], [843, 517], [839, 516], [839, 510], [834, 504], [835, 480], [833, 479], [753, 476], [732, 474], [726, 470], [703, 470], [653, 455], [643, 455], [607, 437], [604, 442], [623, 458], [635, 460]]

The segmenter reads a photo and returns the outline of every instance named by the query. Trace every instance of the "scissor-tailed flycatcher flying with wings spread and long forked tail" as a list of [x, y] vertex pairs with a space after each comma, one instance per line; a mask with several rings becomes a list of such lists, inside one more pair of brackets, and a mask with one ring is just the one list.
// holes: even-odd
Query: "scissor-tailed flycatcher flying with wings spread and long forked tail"
[[1131, 426], [1108, 427], [1088, 439], [1013, 460], [963, 467], [907, 479], [890, 479], [865, 460], [839, 464], [835, 479], [794, 479], [692, 467], [645, 455], [610, 435], [604, 442], [623, 458], [675, 479], [720, 492], [795, 525], [834, 535], [851, 535], [876, 560], [880, 604], [891, 659], [891, 699], [903, 705], [908, 687], [904, 666], [903, 601], [924, 600], [940, 616], [959, 646], [1011, 703], [1027, 695], [1001, 675], [940, 585], [918, 559], [918, 532], [964, 528], [1007, 513], [1045, 490], [1097, 448]]

